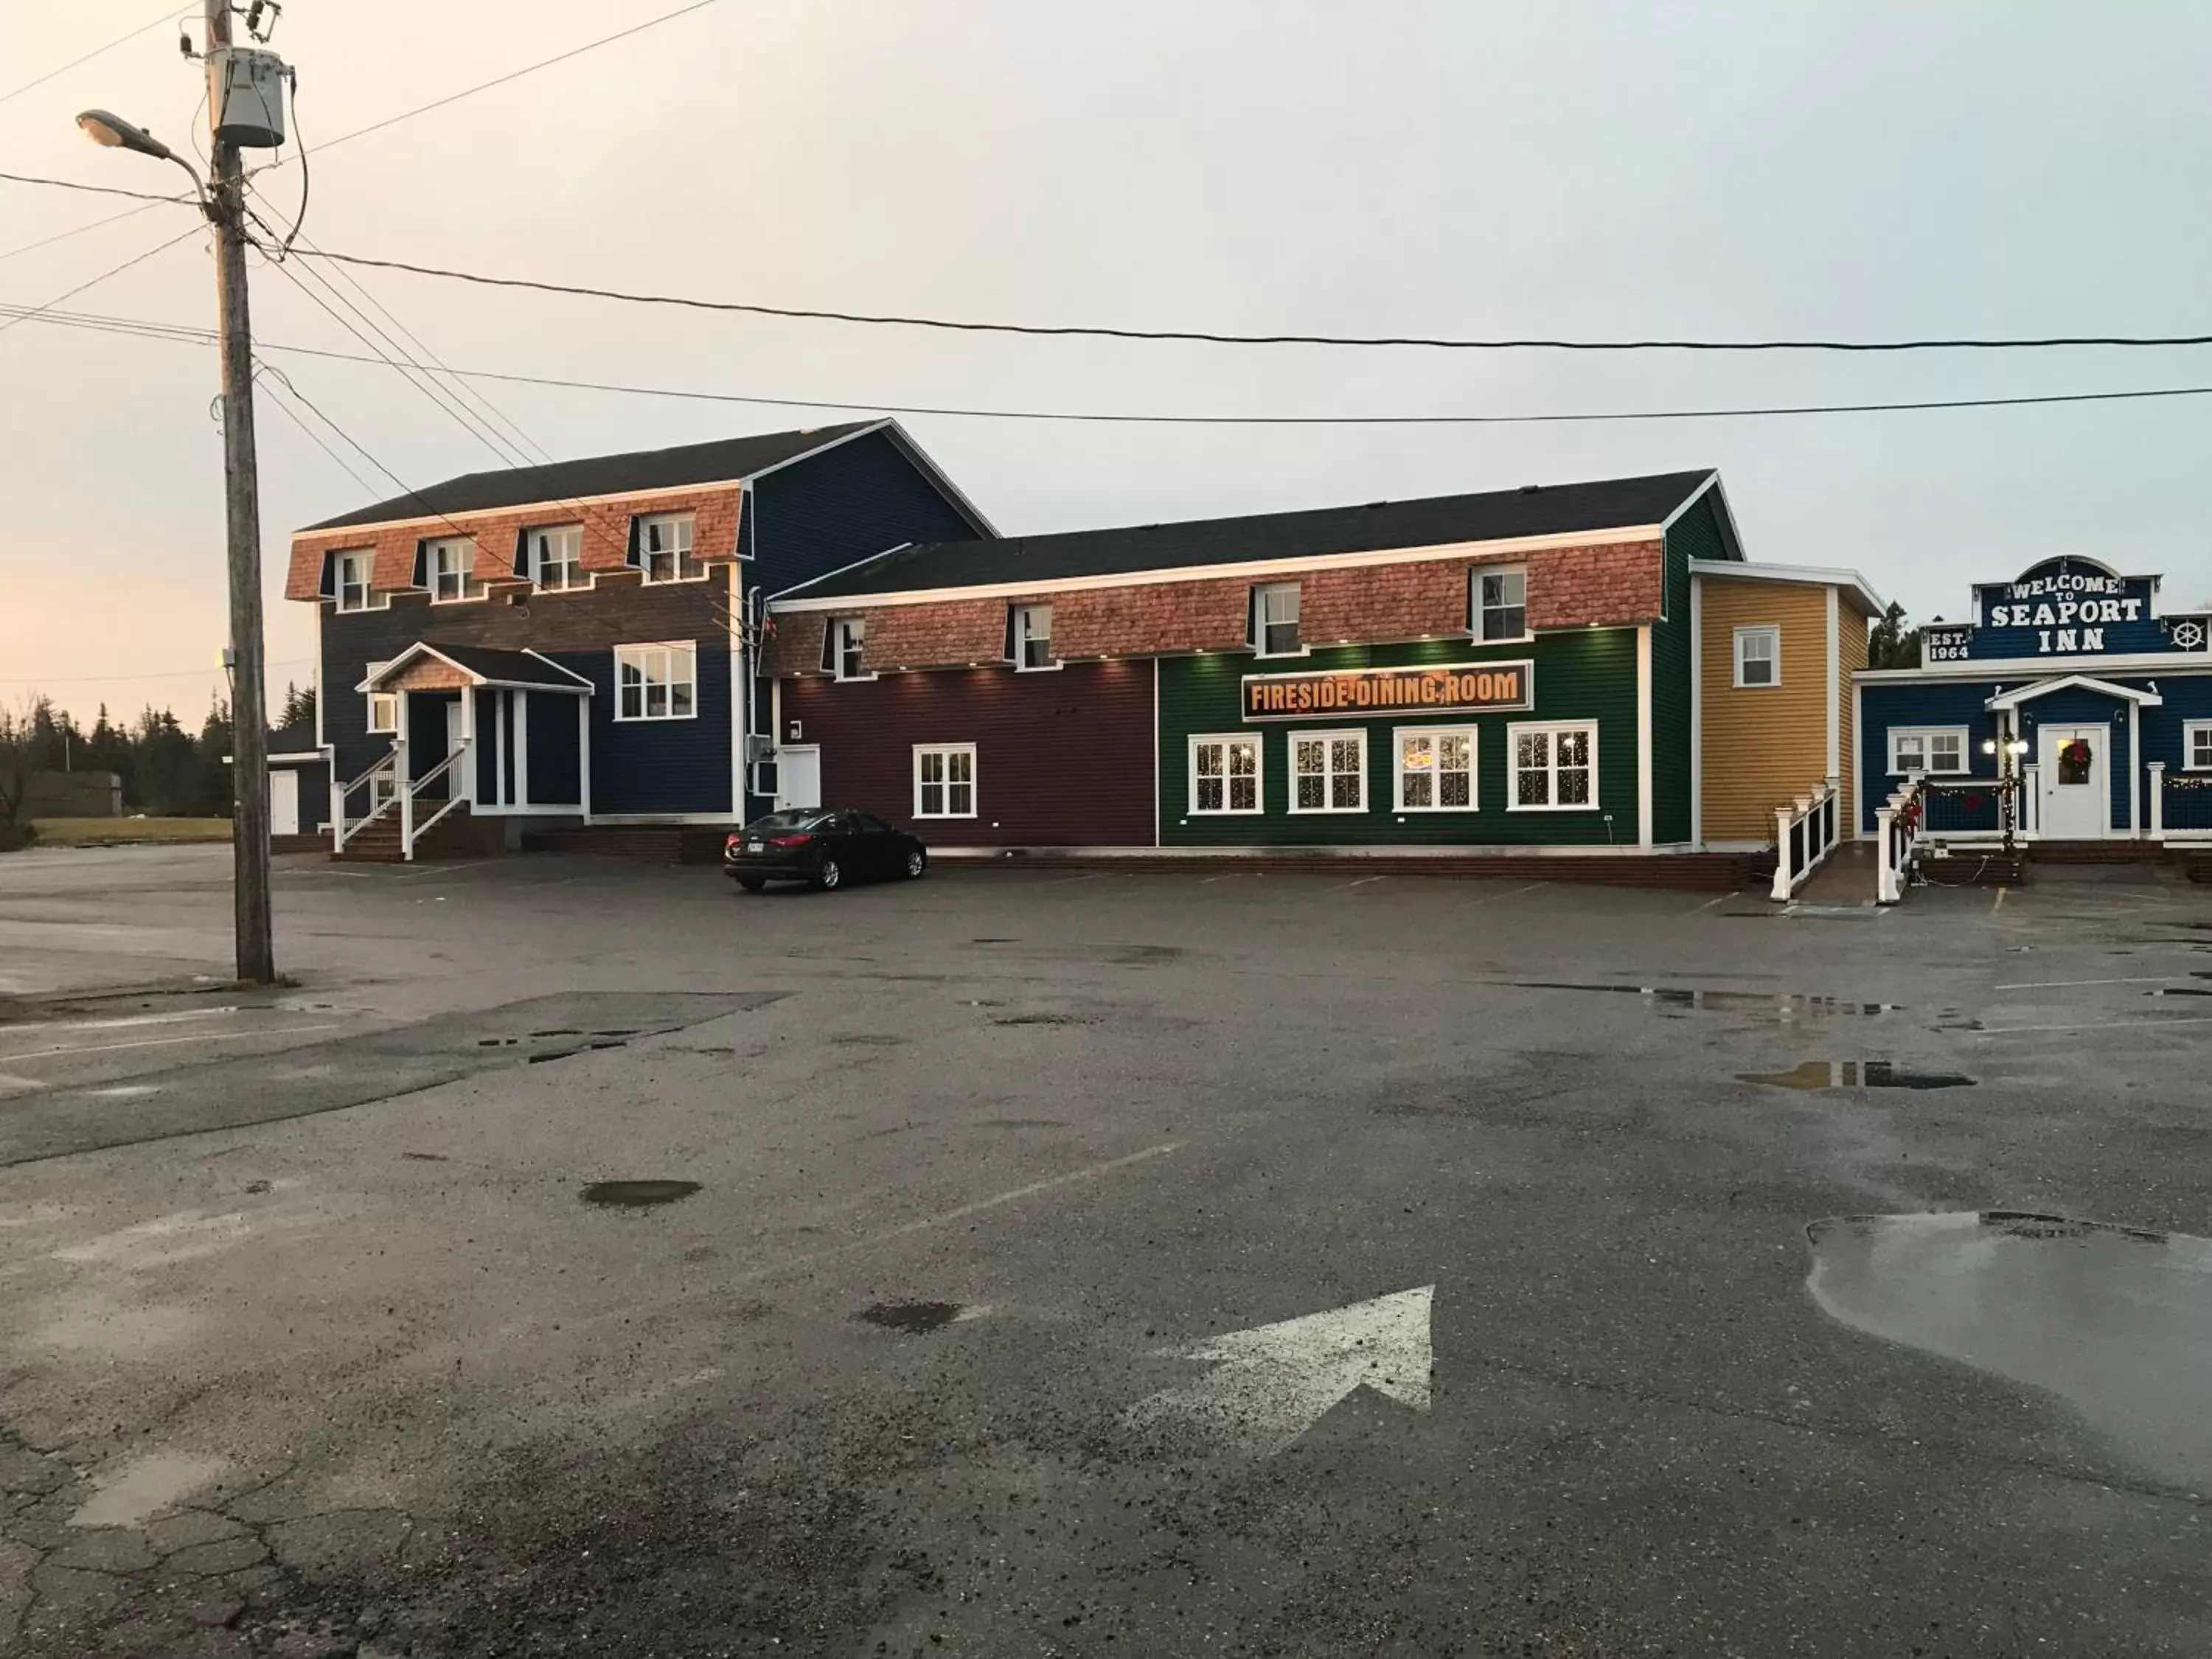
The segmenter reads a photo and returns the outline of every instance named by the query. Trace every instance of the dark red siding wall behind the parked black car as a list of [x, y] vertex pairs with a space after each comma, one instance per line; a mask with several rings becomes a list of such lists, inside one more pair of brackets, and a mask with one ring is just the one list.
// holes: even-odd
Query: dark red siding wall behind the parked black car
[[[783, 721], [823, 750], [823, 803], [940, 847], [1150, 847], [1152, 664], [787, 679]], [[914, 745], [975, 745], [975, 816], [914, 818]]]

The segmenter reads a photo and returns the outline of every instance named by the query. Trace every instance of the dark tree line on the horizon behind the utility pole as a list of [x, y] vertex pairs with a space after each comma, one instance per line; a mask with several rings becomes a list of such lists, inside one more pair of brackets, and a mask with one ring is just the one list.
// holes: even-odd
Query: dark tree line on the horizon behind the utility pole
[[[279, 748], [314, 743], [314, 688], [285, 686], [272, 737]], [[296, 743], [290, 739], [299, 737]], [[31, 776], [38, 772], [113, 772], [122, 779], [124, 812], [153, 818], [230, 816], [230, 703], [208, 703], [199, 728], [184, 726], [175, 710], [146, 706], [133, 721], [115, 721], [102, 703], [91, 730], [33, 695], [20, 706], [0, 706], [0, 847], [20, 843], [18, 823]]]

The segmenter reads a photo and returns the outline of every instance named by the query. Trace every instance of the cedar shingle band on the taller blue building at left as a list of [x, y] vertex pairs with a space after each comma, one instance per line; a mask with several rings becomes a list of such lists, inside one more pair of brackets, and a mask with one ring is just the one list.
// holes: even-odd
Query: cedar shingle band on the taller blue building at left
[[630, 518], [637, 513], [692, 513], [692, 555], [699, 560], [737, 557], [739, 487], [701, 493], [624, 495], [613, 502], [538, 502], [498, 513], [453, 513], [451, 520], [416, 520], [409, 524], [367, 524], [347, 531], [314, 531], [292, 538], [292, 566], [285, 573], [283, 597], [314, 599], [323, 586], [323, 555], [372, 549], [378, 593], [398, 593], [414, 584], [416, 544], [442, 535], [476, 538], [478, 580], [498, 580], [513, 571], [515, 540], [526, 529], [557, 524], [584, 526], [584, 568], [626, 571], [630, 553]]

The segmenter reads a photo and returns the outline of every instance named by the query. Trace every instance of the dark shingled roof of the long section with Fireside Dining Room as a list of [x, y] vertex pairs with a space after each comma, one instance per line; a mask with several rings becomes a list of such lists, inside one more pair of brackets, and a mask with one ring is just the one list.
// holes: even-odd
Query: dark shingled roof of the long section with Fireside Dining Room
[[1588, 484], [1524, 484], [1482, 495], [1431, 495], [1413, 502], [1321, 507], [1301, 513], [1199, 518], [1113, 531], [1009, 535], [995, 542], [933, 542], [887, 553], [794, 588], [799, 599], [1064, 582], [1077, 575], [1135, 575], [1199, 564], [1296, 560], [1325, 553], [1378, 553], [1391, 546], [1502, 542], [1517, 535], [1575, 535], [1661, 524], [1690, 500], [1712, 469], [1604, 478]]

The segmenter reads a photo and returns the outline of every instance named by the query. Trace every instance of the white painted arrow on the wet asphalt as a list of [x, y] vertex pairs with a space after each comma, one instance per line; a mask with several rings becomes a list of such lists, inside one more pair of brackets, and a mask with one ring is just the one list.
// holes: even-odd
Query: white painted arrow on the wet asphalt
[[1429, 1409], [1429, 1307], [1436, 1285], [1376, 1296], [1325, 1314], [1208, 1336], [1197, 1347], [1161, 1349], [1186, 1360], [1219, 1360], [1212, 1371], [1124, 1413], [1133, 1429], [1183, 1422], [1237, 1451], [1270, 1458], [1363, 1387]]

